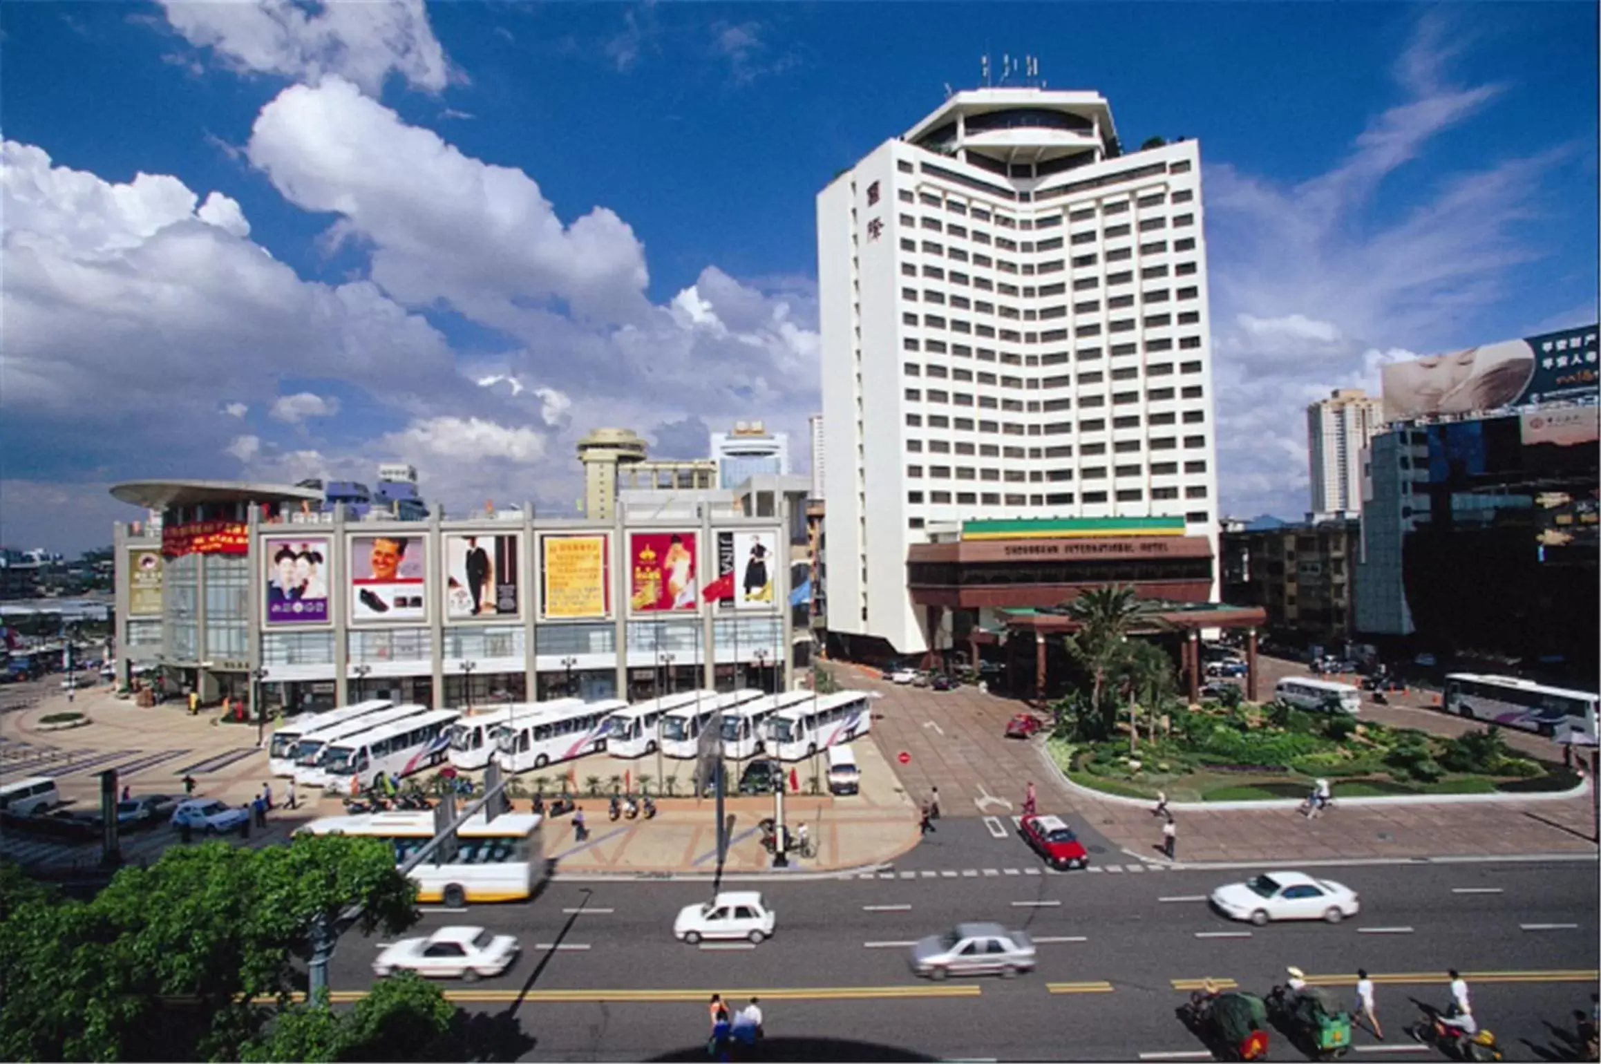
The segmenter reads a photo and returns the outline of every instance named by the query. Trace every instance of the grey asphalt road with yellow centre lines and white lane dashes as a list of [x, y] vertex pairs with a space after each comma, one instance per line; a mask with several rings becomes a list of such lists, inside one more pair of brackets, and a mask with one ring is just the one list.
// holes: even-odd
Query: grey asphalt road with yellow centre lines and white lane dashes
[[[508, 976], [447, 987], [485, 1024], [501, 1024], [503, 1053], [528, 1059], [704, 1059], [712, 992], [762, 995], [770, 1058], [1191, 1059], [1183, 1054], [1206, 1050], [1174, 1011], [1186, 984], [1234, 979], [1265, 992], [1286, 965], [1340, 987], [1358, 966], [1375, 973], [1391, 1046], [1417, 1014], [1410, 997], [1439, 1003], [1439, 973], [1476, 973], [1475, 1011], [1508, 1059], [1564, 1059], [1566, 1043], [1547, 1024], [1571, 1029], [1569, 1013], [1595, 990], [1587, 974], [1598, 966], [1595, 862], [1324, 872], [1361, 893], [1358, 917], [1231, 923], [1204, 896], [1246, 872], [1196, 870], [775, 882], [762, 893], [778, 933], [759, 947], [676, 942], [674, 914], [708, 894], [693, 882], [556, 882], [525, 906], [424, 910], [415, 933], [479, 923], [519, 936], [524, 957]], [[914, 979], [905, 944], [957, 920], [1026, 928], [1039, 941], [1039, 968], [1010, 982]], [[376, 947], [347, 934], [333, 987], [370, 986]], [[1366, 1059], [1430, 1059], [1370, 1034], [1358, 1042]], [[1298, 1054], [1279, 1046], [1274, 1058]]]

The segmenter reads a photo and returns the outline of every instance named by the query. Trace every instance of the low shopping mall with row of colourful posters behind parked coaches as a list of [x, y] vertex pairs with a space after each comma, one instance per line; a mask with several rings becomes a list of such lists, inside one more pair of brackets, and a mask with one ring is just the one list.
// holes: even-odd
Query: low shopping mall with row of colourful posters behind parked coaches
[[112, 494], [150, 512], [115, 526], [122, 682], [288, 709], [791, 685], [786, 499], [357, 520], [301, 486]]

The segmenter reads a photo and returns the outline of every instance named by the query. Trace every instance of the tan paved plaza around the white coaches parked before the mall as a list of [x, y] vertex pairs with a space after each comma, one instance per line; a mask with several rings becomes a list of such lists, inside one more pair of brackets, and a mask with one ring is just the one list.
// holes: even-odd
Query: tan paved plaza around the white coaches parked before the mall
[[[42, 731], [38, 718], [64, 709], [80, 710], [94, 723], [66, 731]], [[253, 829], [248, 840], [237, 835], [227, 838], [242, 845], [261, 846], [287, 842], [296, 827], [319, 816], [338, 816], [344, 808], [338, 798], [322, 797], [320, 790], [298, 789], [299, 808], [282, 806], [287, 781], [267, 774], [266, 752], [256, 749], [253, 725], [213, 725], [218, 714], [191, 717], [178, 704], [139, 709], [131, 701], [120, 701], [110, 688], [80, 691], [69, 707], [66, 696], [0, 717], [0, 778], [56, 776], [58, 790], [70, 808], [93, 810], [99, 803], [96, 773], [106, 768], [123, 768], [123, 781], [141, 794], [183, 795], [184, 773], [197, 781], [195, 797], [215, 797], [231, 805], [250, 802], [261, 792], [264, 781], [272, 782], [277, 808], [269, 813], [267, 830]], [[269, 733], [271, 734], [271, 733]], [[820, 763], [799, 762], [794, 781], [802, 794], [784, 797], [784, 822], [794, 830], [807, 824], [817, 856], [791, 858], [791, 874], [829, 872], [868, 867], [893, 861], [911, 850], [919, 838], [916, 810], [900, 790], [895, 773], [879, 757], [871, 742], [860, 742], [861, 794], [833, 797], [826, 794], [826, 781], [820, 779], [823, 794], [805, 794], [810, 776], [826, 774]], [[70, 755], [70, 757], [69, 757]], [[693, 762], [663, 758], [664, 774], [676, 781], [680, 795], [690, 795]], [[732, 782], [738, 782], [740, 765], [728, 763]], [[599, 781], [610, 792], [613, 778], [620, 786], [639, 789], [640, 774], [652, 778], [652, 794], [656, 795], [658, 814], [650, 821], [616, 821], [607, 816], [607, 797], [588, 797], [589, 781]], [[544, 776], [546, 792], [562, 789], [564, 781], [580, 795], [584, 810], [589, 840], [578, 843], [573, 837], [570, 816], [552, 818], [546, 824], [546, 856], [557, 859], [559, 875], [711, 875], [716, 872], [716, 802], [693, 797], [660, 797], [656, 758], [613, 758], [605, 754], [554, 765], [543, 773], [524, 773], [517, 779], [532, 790], [533, 781]], [[431, 774], [431, 773], [427, 773]], [[477, 776], [479, 773], [469, 773]], [[626, 781], [626, 782], [623, 782]], [[516, 798], [517, 810], [527, 810], [527, 798]], [[767, 870], [772, 858], [760, 846], [757, 822], [773, 816], [773, 798], [740, 797], [725, 802], [725, 813], [733, 816], [733, 835], [725, 862], [725, 872], [751, 874]], [[154, 827], [123, 837], [123, 856], [138, 862], [155, 859], [176, 837], [167, 827]], [[67, 845], [54, 840], [6, 838], [5, 856], [30, 861], [40, 866], [91, 867], [99, 859], [99, 845]]]

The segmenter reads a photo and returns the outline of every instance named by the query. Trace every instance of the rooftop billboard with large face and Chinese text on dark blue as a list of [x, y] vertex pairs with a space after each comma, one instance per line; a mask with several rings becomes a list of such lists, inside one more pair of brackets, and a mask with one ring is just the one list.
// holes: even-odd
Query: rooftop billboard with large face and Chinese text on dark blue
[[1596, 326], [1542, 333], [1382, 370], [1385, 421], [1537, 406], [1596, 395]]

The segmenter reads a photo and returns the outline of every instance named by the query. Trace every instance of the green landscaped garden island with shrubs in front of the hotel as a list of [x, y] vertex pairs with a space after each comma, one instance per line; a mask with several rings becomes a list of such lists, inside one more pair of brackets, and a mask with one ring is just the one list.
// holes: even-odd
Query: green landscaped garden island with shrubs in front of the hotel
[[1174, 707], [1130, 752], [1127, 726], [1073, 739], [1065, 717], [1047, 749], [1074, 782], [1134, 798], [1268, 802], [1303, 798], [1319, 778], [1335, 798], [1567, 790], [1574, 773], [1516, 757], [1494, 726], [1459, 738], [1390, 728], [1284, 704]]

